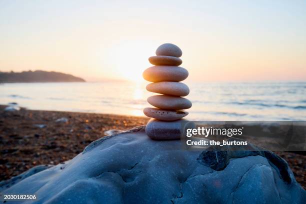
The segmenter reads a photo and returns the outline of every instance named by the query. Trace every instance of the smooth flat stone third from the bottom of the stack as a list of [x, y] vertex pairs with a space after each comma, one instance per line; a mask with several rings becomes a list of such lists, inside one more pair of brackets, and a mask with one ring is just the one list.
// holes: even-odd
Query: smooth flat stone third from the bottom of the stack
[[188, 109], [192, 105], [187, 98], [171, 95], [152, 95], [147, 98], [147, 102], [155, 107], [168, 110]]

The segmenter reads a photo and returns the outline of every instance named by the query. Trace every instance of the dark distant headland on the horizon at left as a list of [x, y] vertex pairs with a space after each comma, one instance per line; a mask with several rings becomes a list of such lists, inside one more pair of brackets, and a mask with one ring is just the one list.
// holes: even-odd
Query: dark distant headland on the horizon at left
[[80, 77], [55, 71], [1, 72], [0, 83], [18, 82], [85, 82]]

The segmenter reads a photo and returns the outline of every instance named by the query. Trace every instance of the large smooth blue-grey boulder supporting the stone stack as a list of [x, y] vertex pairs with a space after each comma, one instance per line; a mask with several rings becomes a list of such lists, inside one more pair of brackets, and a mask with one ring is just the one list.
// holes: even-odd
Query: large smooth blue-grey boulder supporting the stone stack
[[179, 140], [151, 140], [144, 126], [104, 136], [65, 163], [34, 167], [0, 187], [2, 195], [37, 197], [15, 203], [306, 202], [272, 152], [182, 150]]

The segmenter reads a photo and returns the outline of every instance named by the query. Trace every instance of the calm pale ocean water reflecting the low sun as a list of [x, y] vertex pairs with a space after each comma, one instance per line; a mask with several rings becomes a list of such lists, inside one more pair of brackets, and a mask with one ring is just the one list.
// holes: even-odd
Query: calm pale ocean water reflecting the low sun
[[[192, 120], [306, 120], [306, 82], [187, 83]], [[0, 104], [29, 109], [143, 115], [146, 83], [5, 83]]]

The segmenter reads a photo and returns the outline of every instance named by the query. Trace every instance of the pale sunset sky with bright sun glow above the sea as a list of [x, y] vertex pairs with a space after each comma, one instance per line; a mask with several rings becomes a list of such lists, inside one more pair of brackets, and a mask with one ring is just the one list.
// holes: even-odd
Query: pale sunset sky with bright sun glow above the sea
[[0, 71], [141, 81], [166, 42], [192, 81], [306, 80], [303, 0], [0, 0]]

